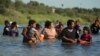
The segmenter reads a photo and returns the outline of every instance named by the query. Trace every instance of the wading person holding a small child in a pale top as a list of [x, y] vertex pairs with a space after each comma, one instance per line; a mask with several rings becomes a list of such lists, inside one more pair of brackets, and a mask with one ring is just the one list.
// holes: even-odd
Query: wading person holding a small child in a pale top
[[22, 31], [23, 37], [23, 43], [29, 43], [29, 44], [37, 44], [37, 37], [38, 32], [35, 29], [36, 28], [36, 22], [35, 20], [29, 20], [28, 26], [25, 27]]

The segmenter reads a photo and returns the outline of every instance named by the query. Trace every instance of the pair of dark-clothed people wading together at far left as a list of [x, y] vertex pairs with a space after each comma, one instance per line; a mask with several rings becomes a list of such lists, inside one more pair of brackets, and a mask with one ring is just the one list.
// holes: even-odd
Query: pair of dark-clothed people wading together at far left
[[3, 35], [17, 37], [19, 35], [17, 23], [15, 21], [10, 23], [8, 20], [5, 20], [5, 27], [3, 29]]

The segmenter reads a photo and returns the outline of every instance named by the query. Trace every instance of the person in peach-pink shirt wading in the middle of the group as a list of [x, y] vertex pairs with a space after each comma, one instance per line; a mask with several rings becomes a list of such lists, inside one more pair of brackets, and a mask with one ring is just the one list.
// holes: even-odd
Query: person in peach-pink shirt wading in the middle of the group
[[45, 28], [43, 29], [42, 34], [44, 34], [45, 39], [55, 39], [57, 32], [54, 24], [51, 21], [45, 22]]

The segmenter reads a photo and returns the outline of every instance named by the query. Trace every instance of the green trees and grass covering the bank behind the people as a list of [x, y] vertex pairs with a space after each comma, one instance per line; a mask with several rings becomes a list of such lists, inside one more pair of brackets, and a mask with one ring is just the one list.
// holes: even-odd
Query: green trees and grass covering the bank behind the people
[[[52, 12], [52, 8], [55, 8], [55, 13]], [[87, 24], [96, 17], [100, 17], [99, 8], [84, 9], [75, 7], [62, 9], [49, 7], [36, 1], [25, 4], [21, 0], [15, 0], [15, 2], [0, 0], [0, 24], [3, 24], [4, 20], [27, 24], [30, 18], [37, 22], [61, 20], [63, 23], [66, 23], [68, 19], [78, 19], [82, 24]]]

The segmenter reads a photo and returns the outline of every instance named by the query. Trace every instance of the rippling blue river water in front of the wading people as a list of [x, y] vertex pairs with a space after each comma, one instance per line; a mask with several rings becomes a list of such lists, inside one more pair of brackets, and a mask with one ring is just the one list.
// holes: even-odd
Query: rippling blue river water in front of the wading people
[[89, 46], [62, 45], [58, 40], [29, 46], [22, 43], [21, 35], [16, 38], [2, 36], [3, 28], [0, 29], [0, 56], [100, 56], [100, 35], [93, 35], [93, 43]]

